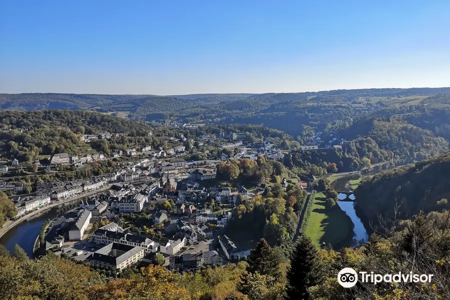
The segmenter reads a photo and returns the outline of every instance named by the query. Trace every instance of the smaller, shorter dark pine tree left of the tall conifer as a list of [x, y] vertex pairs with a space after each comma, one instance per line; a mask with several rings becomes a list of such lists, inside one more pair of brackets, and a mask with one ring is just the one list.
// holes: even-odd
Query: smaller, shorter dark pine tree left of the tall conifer
[[264, 238], [261, 238], [248, 256], [249, 266], [247, 271], [277, 278], [279, 276], [279, 263], [280, 260], [276, 252]]

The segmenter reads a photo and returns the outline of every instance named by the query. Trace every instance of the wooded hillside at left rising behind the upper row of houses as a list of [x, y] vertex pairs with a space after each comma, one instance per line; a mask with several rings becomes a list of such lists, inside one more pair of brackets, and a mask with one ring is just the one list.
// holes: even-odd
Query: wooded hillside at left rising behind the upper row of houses
[[[97, 112], [80, 110], [0, 111], [0, 155], [8, 159], [30, 161], [40, 155], [67, 152], [80, 154], [77, 134], [126, 133], [142, 142], [151, 127], [137, 121]], [[91, 143], [96, 150], [109, 155], [113, 149], [125, 149], [121, 135], [117, 140]]]

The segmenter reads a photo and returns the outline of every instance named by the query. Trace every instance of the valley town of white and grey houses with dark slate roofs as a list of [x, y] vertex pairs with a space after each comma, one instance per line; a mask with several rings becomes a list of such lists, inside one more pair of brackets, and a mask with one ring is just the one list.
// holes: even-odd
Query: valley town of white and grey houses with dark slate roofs
[[[186, 124], [163, 126], [183, 128]], [[120, 135], [102, 132], [79, 138], [89, 143]], [[217, 165], [236, 159], [255, 161], [261, 156], [282, 161], [288, 155], [268, 140], [262, 144], [245, 143], [248, 135], [231, 132], [187, 139], [179, 133], [176, 139], [167, 138], [173, 145], [171, 148], [152, 149], [143, 144], [138, 149], [127, 149], [126, 153], [112, 152], [110, 157], [97, 152], [84, 156], [55, 153], [34, 163], [51, 172], [64, 166], [80, 168], [118, 157], [124, 161], [117, 163], [115, 171], [88, 179], [36, 182], [32, 187], [0, 184], [1, 188], [19, 194], [14, 197], [17, 215], [12, 221], [27, 218], [50, 205], [61, 206], [82, 199], [77, 201], [80, 201], [77, 207], [45, 223], [43, 236], [36, 239], [34, 246], [36, 255], [52, 251], [90, 263], [94, 268], [115, 271], [155, 261], [173, 271], [226, 264], [245, 259], [250, 253], [249, 248], [237, 247], [224, 233], [233, 209], [241, 204], [239, 201], [262, 194], [265, 186], [257, 184], [247, 189], [243, 185], [222, 184], [216, 180]], [[206, 143], [223, 151], [216, 159], [186, 161], [182, 158], [186, 154], [185, 142], [200, 147]], [[334, 151], [336, 148], [332, 147]], [[235, 154], [230, 155], [228, 149]], [[13, 159], [10, 165], [1, 167], [6, 173], [22, 165]], [[282, 183], [285, 187], [286, 180]], [[300, 188], [307, 185], [305, 181], [299, 182]]]

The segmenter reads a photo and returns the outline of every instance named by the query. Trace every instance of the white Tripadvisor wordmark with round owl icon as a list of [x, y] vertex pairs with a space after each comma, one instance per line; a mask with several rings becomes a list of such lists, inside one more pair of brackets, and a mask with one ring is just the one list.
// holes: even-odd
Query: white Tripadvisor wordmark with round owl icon
[[[377, 284], [380, 282], [431, 282], [433, 274], [413, 274], [412, 272], [403, 274], [401, 272], [395, 274], [375, 274], [374, 272], [360, 271], [360, 280], [362, 283]], [[343, 287], [353, 287], [358, 282], [358, 273], [351, 267], [344, 267], [337, 274], [337, 281]]]

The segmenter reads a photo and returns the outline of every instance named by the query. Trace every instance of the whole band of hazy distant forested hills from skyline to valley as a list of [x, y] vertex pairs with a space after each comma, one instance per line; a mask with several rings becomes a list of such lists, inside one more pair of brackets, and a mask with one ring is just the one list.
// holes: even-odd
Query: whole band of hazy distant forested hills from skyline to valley
[[[283, 130], [304, 144], [305, 127], [315, 133], [328, 125], [346, 128], [354, 120], [374, 115], [407, 115], [408, 123], [432, 130], [438, 136], [450, 132], [441, 121], [424, 120], [414, 110], [450, 110], [450, 87], [369, 88], [300, 93], [104, 95], [23, 93], [0, 94], [0, 108], [14, 110], [90, 110], [127, 116], [140, 121], [172, 118], [181, 122], [214, 124], [263, 124]], [[442, 114], [442, 120], [445, 115]], [[439, 128], [437, 133], [435, 128]], [[309, 129], [306, 129], [308, 131]], [[330, 134], [335, 130], [331, 130]], [[340, 137], [346, 137], [340, 134]], [[450, 136], [450, 133], [448, 134]], [[314, 134], [311, 135], [311, 137]], [[322, 136], [321, 136], [322, 137]], [[348, 139], [348, 138], [347, 138]], [[447, 138], [448, 139], [448, 138]], [[406, 160], [407, 161], [407, 160]]]

